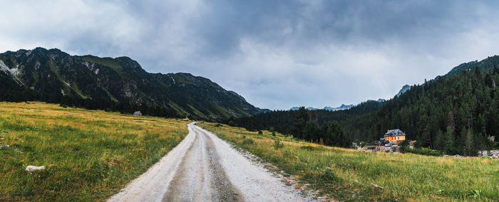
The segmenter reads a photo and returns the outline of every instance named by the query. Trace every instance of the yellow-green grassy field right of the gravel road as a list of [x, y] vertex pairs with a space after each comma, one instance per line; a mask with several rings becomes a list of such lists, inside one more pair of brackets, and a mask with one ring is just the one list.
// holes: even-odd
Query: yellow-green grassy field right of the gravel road
[[267, 131], [198, 125], [337, 200], [499, 201], [498, 159], [367, 152], [324, 147]]

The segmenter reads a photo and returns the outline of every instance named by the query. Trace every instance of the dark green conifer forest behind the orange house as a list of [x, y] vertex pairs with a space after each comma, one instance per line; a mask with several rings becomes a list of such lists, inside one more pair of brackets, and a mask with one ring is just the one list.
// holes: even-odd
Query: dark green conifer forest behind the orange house
[[[406, 138], [416, 140], [416, 147], [426, 147], [446, 154], [473, 156], [483, 149], [498, 148], [499, 68], [465, 69], [460, 73], [439, 76], [386, 102], [363, 102], [350, 110], [274, 111], [240, 119], [227, 119], [232, 126], [249, 130], [274, 129], [284, 134], [321, 142], [331, 138], [324, 132], [331, 122], [347, 142], [374, 144], [388, 129], [401, 129]], [[302, 119], [307, 119], [304, 127]], [[317, 127], [313, 126], [317, 125]], [[300, 129], [298, 129], [300, 128]], [[322, 140], [321, 140], [322, 139]], [[344, 143], [324, 141], [326, 145]]]

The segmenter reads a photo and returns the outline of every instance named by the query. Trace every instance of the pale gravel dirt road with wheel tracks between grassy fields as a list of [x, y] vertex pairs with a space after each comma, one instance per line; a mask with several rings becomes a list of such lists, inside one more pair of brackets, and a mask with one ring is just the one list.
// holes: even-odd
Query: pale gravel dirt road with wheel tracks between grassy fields
[[189, 134], [108, 201], [309, 201], [205, 129]]

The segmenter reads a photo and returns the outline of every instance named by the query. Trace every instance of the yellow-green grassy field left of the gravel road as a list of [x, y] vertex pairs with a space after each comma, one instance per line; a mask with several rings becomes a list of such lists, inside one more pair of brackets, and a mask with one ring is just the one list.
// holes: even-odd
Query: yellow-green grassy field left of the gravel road
[[[0, 201], [103, 201], [187, 135], [187, 122], [0, 102]], [[26, 166], [45, 166], [33, 174]]]

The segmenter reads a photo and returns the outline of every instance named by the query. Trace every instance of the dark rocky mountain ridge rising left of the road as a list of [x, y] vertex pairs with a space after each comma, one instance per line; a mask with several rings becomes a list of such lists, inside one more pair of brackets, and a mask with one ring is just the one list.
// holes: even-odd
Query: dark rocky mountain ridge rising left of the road
[[179, 116], [220, 120], [262, 110], [236, 92], [190, 73], [147, 73], [128, 57], [69, 55], [58, 49], [0, 54], [0, 87], [86, 100], [131, 102], [174, 110]]

